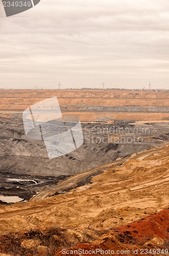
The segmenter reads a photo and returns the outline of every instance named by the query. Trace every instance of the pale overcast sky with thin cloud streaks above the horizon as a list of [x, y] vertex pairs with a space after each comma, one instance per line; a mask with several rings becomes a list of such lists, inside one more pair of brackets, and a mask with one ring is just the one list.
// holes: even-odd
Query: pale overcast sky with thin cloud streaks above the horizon
[[0, 0], [0, 34], [0, 88], [169, 89], [168, 0]]

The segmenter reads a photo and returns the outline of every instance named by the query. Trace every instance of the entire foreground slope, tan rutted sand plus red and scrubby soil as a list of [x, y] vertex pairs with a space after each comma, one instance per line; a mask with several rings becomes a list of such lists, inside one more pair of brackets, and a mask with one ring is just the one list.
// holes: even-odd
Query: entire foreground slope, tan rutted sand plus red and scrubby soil
[[[167, 144], [133, 154], [60, 181], [30, 202], [1, 205], [1, 248], [17, 245], [19, 250], [29, 251], [37, 241], [36, 248], [42, 251], [59, 245], [69, 248], [73, 244], [75, 249], [138, 249], [137, 255], [140, 249], [169, 249], [168, 152]], [[94, 176], [100, 170], [101, 174]], [[58, 190], [73, 187], [91, 174], [94, 177], [90, 183], [57, 195]], [[14, 233], [3, 236], [9, 232]], [[49, 243], [51, 236], [54, 244]], [[43, 251], [26, 255], [54, 255], [55, 249], [52, 254]], [[153, 253], [157, 254], [167, 255]], [[61, 251], [55, 255], [61, 255]]]

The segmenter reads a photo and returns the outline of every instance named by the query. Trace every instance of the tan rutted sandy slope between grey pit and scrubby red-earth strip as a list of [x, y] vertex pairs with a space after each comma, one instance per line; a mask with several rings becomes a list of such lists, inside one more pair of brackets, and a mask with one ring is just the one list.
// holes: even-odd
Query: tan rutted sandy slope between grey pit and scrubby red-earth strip
[[[103, 169], [90, 184], [52, 196], [66, 185], [85, 178], [87, 172], [60, 181], [32, 201], [0, 206], [1, 233], [61, 225], [82, 232], [84, 228], [109, 228], [139, 220], [168, 206], [169, 146], [138, 154], [90, 171]], [[89, 174], [88, 174], [89, 175]], [[46, 196], [52, 196], [47, 197]], [[41, 199], [41, 200], [40, 200]], [[12, 225], [11, 225], [12, 224]]]

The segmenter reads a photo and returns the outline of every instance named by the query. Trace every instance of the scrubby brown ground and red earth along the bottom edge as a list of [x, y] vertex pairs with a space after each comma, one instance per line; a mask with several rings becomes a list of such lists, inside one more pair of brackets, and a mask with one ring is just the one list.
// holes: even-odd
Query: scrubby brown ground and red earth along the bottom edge
[[[94, 241], [87, 241], [72, 229], [51, 227], [46, 230], [12, 233], [0, 236], [0, 251], [10, 255], [168, 255], [168, 217], [169, 209], [158, 214], [116, 229], [109, 228], [96, 232], [90, 230], [89, 238], [98, 236]], [[80, 252], [81, 250], [81, 252]], [[83, 250], [83, 251], [82, 251]], [[97, 250], [97, 251], [96, 251]], [[12, 252], [12, 254], [11, 254]], [[6, 256], [7, 254], [1, 254]], [[8, 254], [9, 255], [9, 254]]]

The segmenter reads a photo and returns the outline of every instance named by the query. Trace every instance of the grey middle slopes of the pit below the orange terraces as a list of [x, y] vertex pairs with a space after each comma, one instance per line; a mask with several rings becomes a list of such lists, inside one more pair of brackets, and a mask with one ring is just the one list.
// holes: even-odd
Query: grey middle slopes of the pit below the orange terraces
[[[43, 141], [25, 137], [21, 119], [0, 118], [0, 172], [14, 173], [19, 179], [21, 174], [73, 175], [134, 152], [161, 146], [169, 135], [168, 123], [135, 124], [122, 120], [114, 124], [82, 123], [82, 130], [84, 142], [77, 150], [48, 159]], [[3, 181], [6, 182], [0, 181], [1, 186], [5, 185]]]

